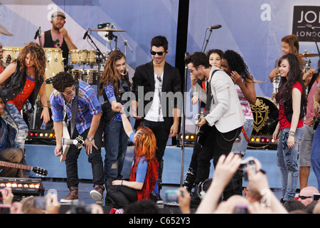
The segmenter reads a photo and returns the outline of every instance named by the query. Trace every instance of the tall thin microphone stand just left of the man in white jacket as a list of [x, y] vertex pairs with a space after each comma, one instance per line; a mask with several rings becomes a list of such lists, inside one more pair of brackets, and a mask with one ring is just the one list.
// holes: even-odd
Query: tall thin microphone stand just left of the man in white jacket
[[[185, 53], [186, 59], [187, 53]], [[184, 85], [183, 85], [183, 102], [182, 102], [182, 146], [181, 146], [181, 171], [180, 171], [180, 187], [183, 187], [183, 165], [184, 165], [184, 136], [186, 135], [186, 85], [187, 85], [188, 67], [184, 67]]]

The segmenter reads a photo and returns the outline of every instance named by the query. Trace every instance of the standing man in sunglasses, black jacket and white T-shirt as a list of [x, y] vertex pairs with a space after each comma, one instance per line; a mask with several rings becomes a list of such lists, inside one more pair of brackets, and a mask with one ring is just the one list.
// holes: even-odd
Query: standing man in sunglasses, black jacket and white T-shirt
[[[177, 102], [174, 96], [166, 96], [169, 93], [181, 93], [181, 78], [178, 68], [166, 63], [168, 54], [168, 41], [165, 36], [155, 36], [151, 39], [152, 61], [136, 68], [132, 78], [132, 92], [135, 98], [132, 100], [132, 115], [136, 118], [134, 125], [150, 128], [156, 136], [156, 159], [159, 162], [158, 186], [161, 190], [161, 177], [164, 168], [164, 150], [169, 138], [178, 133], [178, 123], [181, 102]], [[139, 90], [143, 91], [143, 98], [139, 98]], [[150, 98], [150, 93], [153, 93]], [[170, 97], [170, 98], [169, 98]], [[139, 103], [138, 106], [138, 100]], [[140, 108], [140, 107], [143, 107]], [[139, 108], [139, 109], [138, 109]], [[160, 192], [155, 190], [157, 203], [163, 203]]]

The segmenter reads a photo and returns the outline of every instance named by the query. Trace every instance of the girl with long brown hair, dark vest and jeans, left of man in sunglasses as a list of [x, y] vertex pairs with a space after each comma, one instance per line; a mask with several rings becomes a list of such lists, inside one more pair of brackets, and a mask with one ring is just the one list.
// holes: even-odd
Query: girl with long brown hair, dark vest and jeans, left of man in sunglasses
[[[114, 113], [114, 118], [105, 124], [105, 180], [121, 179], [124, 157], [127, 152], [128, 136], [126, 135], [119, 111], [122, 104], [122, 94], [130, 90], [131, 83], [126, 70], [126, 58], [121, 51], [114, 50], [105, 63], [105, 71], [100, 78], [99, 93], [104, 94], [105, 102], [111, 104], [108, 113]], [[102, 105], [103, 106], [103, 105]], [[104, 114], [107, 114], [104, 110]], [[116, 115], [115, 115], [116, 114]], [[102, 116], [103, 119], [103, 116]], [[103, 121], [103, 120], [102, 120]]]

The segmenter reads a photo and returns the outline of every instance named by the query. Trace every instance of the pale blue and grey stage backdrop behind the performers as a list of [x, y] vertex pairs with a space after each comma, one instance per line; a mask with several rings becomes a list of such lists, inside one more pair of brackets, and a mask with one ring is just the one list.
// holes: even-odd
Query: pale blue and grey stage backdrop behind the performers
[[[168, 38], [169, 54], [166, 61], [175, 66], [176, 46], [181, 44], [176, 43], [177, 38], [181, 38], [177, 37], [180, 34], [177, 31], [178, 16], [179, 13], [188, 14], [188, 32], [184, 38], [186, 50], [183, 52], [201, 51], [203, 41], [209, 34], [206, 28], [220, 24], [221, 28], [213, 30], [206, 51], [210, 48], [238, 51], [245, 58], [255, 80], [265, 82], [255, 84], [257, 95], [271, 97], [273, 86], [268, 74], [274, 68], [275, 59], [282, 55], [281, 38], [295, 33], [296, 28], [300, 29], [306, 23], [320, 31], [319, 0], [181, 0], [181, 3], [189, 4], [187, 12], [179, 11], [178, 0], [2, 0], [0, 24], [14, 36], [0, 34], [0, 41], [3, 46], [23, 46], [34, 41], [38, 27], [41, 27], [41, 31], [50, 29], [50, 15], [59, 10], [65, 12], [65, 28], [76, 46], [92, 50], [90, 42], [83, 39], [87, 28], [97, 29], [100, 23], [114, 24], [115, 28], [124, 30], [120, 34], [128, 44], [127, 63], [129, 76], [132, 77], [137, 66], [151, 61], [150, 41], [157, 35]], [[294, 11], [297, 6], [302, 9]], [[294, 14], [297, 15], [294, 17]], [[103, 53], [108, 53], [115, 47], [115, 41], [107, 43], [105, 34], [92, 31], [91, 37]], [[124, 52], [120, 34], [114, 33], [117, 36], [117, 48]], [[304, 31], [296, 34], [299, 37], [306, 36]], [[320, 32], [317, 33], [318, 40], [319, 36]], [[305, 50], [317, 53], [314, 41], [300, 42], [299, 52]], [[312, 68], [316, 68], [318, 59], [311, 58]], [[188, 90], [188, 75], [187, 82]], [[189, 100], [186, 104], [186, 129], [193, 131], [193, 117], [198, 107], [191, 106]]]

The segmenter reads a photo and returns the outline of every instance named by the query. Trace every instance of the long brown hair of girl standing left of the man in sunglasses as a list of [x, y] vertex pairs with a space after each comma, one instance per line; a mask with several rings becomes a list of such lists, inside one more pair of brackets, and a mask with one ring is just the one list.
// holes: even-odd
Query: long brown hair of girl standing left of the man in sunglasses
[[[98, 90], [99, 95], [102, 95], [102, 92], [108, 83], [112, 83], [117, 95], [120, 95], [119, 81], [117, 77], [118, 72], [116, 70], [115, 64], [116, 61], [120, 60], [121, 58], [125, 59], [126, 57], [124, 56], [124, 53], [119, 50], [112, 51], [108, 56], [107, 61], [105, 62], [105, 70], [100, 77]], [[124, 75], [124, 80], [127, 81], [129, 86], [131, 86], [131, 83], [129, 82], [128, 72]]]

